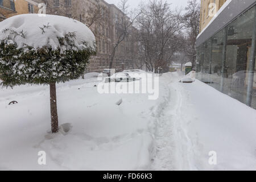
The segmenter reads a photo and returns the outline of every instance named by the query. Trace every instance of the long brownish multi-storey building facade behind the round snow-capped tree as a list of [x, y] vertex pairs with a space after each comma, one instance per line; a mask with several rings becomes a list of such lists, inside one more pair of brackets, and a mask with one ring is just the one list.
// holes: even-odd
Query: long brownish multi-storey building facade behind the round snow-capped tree
[[[117, 19], [122, 12], [104, 0], [43, 0], [47, 14], [68, 16], [86, 24], [96, 36], [97, 55], [90, 59], [86, 72], [102, 72], [109, 68], [110, 57], [117, 39]], [[132, 29], [133, 27], [131, 27]], [[138, 55], [137, 42], [123, 40], [115, 52], [113, 68], [117, 71], [134, 68]]]

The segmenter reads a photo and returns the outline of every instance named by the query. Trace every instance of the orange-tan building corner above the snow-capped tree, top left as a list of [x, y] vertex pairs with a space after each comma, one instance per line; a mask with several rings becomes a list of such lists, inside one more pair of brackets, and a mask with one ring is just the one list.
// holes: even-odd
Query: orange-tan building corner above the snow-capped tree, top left
[[0, 0], [0, 21], [18, 14], [38, 13], [40, 0]]

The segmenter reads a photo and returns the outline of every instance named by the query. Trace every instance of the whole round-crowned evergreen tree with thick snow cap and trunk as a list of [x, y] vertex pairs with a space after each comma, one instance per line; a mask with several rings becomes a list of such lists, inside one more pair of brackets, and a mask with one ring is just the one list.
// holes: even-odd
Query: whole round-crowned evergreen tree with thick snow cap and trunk
[[25, 14], [0, 23], [2, 86], [44, 84], [50, 87], [52, 133], [58, 131], [56, 83], [79, 78], [95, 37], [85, 24], [64, 16]]

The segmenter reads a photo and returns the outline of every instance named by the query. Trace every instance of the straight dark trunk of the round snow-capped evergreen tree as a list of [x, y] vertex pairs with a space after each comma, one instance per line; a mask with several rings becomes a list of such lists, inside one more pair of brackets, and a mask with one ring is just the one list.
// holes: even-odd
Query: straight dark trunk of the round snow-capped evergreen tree
[[50, 102], [51, 102], [51, 126], [52, 133], [57, 133], [59, 129], [58, 114], [57, 114], [57, 97], [56, 84], [50, 84]]

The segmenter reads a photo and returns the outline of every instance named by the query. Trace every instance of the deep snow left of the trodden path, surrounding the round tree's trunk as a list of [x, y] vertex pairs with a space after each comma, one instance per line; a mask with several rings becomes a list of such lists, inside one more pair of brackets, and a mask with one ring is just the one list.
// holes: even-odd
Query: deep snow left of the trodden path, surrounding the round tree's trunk
[[[0, 89], [0, 170], [149, 169], [154, 136], [148, 115], [157, 101], [147, 94], [100, 94], [98, 82], [56, 85], [60, 132], [53, 135], [47, 133], [48, 86]], [[11, 100], [18, 104], [8, 105]], [[38, 164], [39, 151], [46, 152], [46, 166]]]

